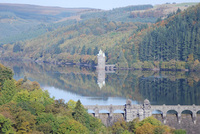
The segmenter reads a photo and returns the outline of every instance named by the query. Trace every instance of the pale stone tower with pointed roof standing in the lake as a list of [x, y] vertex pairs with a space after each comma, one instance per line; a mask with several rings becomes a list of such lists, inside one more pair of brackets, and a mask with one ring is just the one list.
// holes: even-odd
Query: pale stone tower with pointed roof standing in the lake
[[97, 69], [98, 70], [105, 70], [105, 54], [103, 51], [99, 51], [99, 54], [97, 54], [97, 59], [98, 59], [98, 65]]

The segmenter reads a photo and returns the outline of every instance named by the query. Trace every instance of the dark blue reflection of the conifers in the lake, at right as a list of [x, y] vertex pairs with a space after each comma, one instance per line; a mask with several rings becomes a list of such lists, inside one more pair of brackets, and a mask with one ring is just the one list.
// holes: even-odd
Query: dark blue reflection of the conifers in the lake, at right
[[190, 77], [171, 80], [169, 78], [139, 78], [142, 96], [156, 104], [200, 104], [200, 81], [189, 82]]

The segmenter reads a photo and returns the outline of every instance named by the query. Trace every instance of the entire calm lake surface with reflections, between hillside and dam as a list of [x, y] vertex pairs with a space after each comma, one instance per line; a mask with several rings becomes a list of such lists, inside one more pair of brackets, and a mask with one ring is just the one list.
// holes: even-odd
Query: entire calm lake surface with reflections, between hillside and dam
[[124, 105], [126, 99], [151, 104], [200, 105], [200, 74], [117, 70], [100, 71], [80, 66], [2, 61], [16, 80], [38, 81], [56, 99], [78, 99], [84, 105]]

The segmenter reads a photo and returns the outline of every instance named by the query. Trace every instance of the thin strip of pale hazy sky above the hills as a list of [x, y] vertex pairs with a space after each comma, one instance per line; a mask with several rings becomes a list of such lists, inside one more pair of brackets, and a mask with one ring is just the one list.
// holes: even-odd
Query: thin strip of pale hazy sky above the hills
[[124, 7], [128, 5], [142, 4], [164, 4], [169, 3], [185, 3], [200, 2], [200, 0], [0, 0], [0, 3], [20, 3], [33, 4], [42, 6], [59, 6], [59, 7], [90, 7], [99, 9], [112, 9], [116, 7]]

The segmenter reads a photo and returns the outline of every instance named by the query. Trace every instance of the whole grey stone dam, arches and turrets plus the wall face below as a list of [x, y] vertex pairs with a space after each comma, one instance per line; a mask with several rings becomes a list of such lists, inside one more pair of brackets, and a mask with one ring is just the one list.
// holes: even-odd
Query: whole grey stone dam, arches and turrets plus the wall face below
[[[148, 100], [145, 100], [142, 105], [132, 105], [128, 100], [125, 105], [90, 105], [84, 107], [92, 111], [91, 115], [101, 119], [106, 126], [111, 126], [118, 120], [129, 122], [135, 118], [143, 120], [153, 115], [164, 124], [176, 129], [187, 129], [188, 133], [191, 134], [200, 132], [200, 106], [196, 105], [150, 105]], [[104, 113], [100, 112], [102, 110]]]

